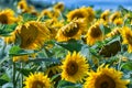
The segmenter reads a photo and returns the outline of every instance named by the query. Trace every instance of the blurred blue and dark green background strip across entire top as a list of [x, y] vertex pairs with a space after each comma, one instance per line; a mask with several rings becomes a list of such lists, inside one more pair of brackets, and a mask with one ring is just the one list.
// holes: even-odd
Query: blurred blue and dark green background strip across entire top
[[[2, 8], [13, 8], [15, 3], [20, 0], [0, 0], [0, 9]], [[28, 3], [34, 4], [37, 9], [48, 8], [56, 2], [64, 2], [66, 8], [75, 9], [82, 6], [92, 6], [94, 9], [117, 9], [119, 6], [125, 9], [132, 10], [132, 0], [26, 0]]]

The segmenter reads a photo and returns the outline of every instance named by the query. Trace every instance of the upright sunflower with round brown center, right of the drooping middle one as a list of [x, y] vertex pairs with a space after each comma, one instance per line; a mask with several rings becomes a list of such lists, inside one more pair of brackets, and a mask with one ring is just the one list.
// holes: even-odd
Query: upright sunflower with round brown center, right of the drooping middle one
[[102, 31], [99, 28], [100, 23], [91, 25], [86, 34], [87, 44], [94, 45], [97, 41], [103, 40]]

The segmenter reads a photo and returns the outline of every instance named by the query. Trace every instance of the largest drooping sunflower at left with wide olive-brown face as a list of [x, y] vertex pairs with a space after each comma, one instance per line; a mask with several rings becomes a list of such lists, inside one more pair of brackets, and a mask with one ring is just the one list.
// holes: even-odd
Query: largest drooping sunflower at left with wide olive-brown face
[[50, 38], [50, 31], [42, 22], [30, 21], [16, 26], [18, 35], [21, 38], [21, 48], [36, 50], [43, 46]]

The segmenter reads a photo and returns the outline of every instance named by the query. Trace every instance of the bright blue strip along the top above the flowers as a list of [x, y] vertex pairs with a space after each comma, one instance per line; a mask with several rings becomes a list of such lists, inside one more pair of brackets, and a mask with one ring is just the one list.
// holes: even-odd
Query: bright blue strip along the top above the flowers
[[81, 6], [95, 6], [95, 9], [116, 9], [118, 6], [132, 9], [132, 0], [32, 0], [34, 2], [55, 3], [64, 2], [67, 8], [78, 8]]

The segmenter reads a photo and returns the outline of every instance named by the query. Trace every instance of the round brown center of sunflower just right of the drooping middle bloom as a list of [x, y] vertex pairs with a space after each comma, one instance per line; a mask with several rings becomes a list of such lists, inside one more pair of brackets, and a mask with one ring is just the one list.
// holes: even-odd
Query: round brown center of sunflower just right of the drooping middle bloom
[[100, 30], [100, 28], [99, 28], [98, 25], [92, 26], [92, 28], [90, 29], [90, 35], [91, 35], [92, 37], [99, 37], [101, 34], [102, 34], [102, 33], [101, 33], [101, 30]]

